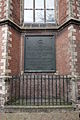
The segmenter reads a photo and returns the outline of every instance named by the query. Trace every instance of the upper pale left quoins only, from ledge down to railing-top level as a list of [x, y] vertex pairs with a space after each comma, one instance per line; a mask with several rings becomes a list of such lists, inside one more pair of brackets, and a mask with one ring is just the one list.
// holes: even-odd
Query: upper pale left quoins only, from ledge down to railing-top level
[[[8, 69], [9, 63], [8, 60], [11, 59], [9, 56], [9, 48], [12, 47], [12, 44], [10, 41], [12, 41], [11, 38], [12, 33], [9, 31], [9, 28], [7, 25], [2, 27], [2, 58], [0, 60], [0, 63], [2, 66], [0, 66], [0, 70], [2, 71], [0, 73], [1, 76], [8, 75], [11, 73], [11, 70]], [[9, 52], [8, 52], [9, 51]]]

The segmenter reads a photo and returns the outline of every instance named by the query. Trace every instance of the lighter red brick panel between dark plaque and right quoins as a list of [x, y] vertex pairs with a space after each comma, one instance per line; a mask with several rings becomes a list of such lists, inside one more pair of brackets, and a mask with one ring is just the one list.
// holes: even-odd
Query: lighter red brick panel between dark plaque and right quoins
[[56, 70], [58, 74], [70, 74], [68, 28], [60, 31], [56, 36]]

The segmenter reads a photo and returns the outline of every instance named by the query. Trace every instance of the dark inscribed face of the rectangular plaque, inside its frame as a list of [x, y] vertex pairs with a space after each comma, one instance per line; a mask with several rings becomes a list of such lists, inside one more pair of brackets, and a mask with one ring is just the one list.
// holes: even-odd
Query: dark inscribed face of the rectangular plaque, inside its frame
[[54, 36], [25, 38], [24, 69], [55, 70]]

